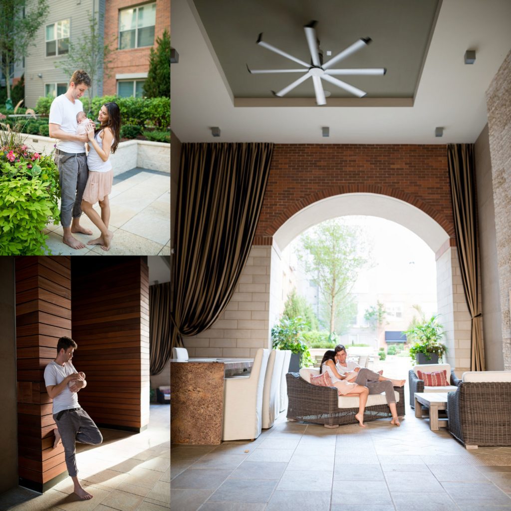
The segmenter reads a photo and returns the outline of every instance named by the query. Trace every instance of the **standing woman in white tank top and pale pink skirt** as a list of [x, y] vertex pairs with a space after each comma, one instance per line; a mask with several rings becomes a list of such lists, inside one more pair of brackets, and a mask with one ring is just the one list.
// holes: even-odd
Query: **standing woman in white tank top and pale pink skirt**
[[[108, 230], [110, 221], [108, 194], [112, 191], [113, 181], [110, 152], [114, 153], [119, 144], [121, 113], [118, 104], [105, 103], [99, 111], [98, 119], [101, 122], [99, 129], [95, 130], [90, 124], [87, 127], [89, 177], [83, 192], [82, 211], [101, 231], [101, 236], [88, 241], [87, 245], [101, 245], [103, 250], [109, 250], [113, 238], [112, 231]], [[99, 202], [101, 207], [101, 217], [92, 207], [96, 202]]]

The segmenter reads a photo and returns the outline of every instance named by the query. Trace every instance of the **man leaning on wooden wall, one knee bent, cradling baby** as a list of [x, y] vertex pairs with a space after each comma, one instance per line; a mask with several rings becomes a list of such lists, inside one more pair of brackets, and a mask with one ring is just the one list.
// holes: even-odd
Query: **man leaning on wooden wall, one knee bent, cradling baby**
[[74, 492], [82, 500], [92, 498], [78, 480], [76, 467], [76, 442], [99, 445], [103, 442], [100, 430], [78, 403], [78, 391], [87, 385], [84, 373], [78, 373], [71, 362], [78, 347], [69, 337], [61, 337], [57, 342], [57, 358], [44, 368], [44, 383], [48, 396], [53, 399], [53, 420], [55, 449], [60, 440], [64, 446], [67, 472], [73, 479]]

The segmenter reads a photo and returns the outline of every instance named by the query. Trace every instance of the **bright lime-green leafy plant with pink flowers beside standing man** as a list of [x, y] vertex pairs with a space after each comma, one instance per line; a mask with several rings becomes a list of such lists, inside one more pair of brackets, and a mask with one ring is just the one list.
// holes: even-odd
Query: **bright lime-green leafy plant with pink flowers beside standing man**
[[[23, 146], [26, 147], [26, 146]], [[18, 156], [22, 148], [16, 150]], [[49, 220], [59, 222], [59, 173], [51, 156], [9, 161], [2, 153], [0, 169], [0, 255], [43, 255]], [[51, 253], [51, 252], [50, 252]]]

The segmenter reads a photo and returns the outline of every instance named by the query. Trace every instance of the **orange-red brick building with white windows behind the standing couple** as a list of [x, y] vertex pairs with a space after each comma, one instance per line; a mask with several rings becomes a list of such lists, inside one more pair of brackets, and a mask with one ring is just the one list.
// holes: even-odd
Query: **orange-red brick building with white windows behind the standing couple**
[[165, 29], [170, 32], [170, 0], [107, 0], [105, 41], [117, 50], [110, 77], [105, 69], [104, 95], [142, 96], [151, 47]]

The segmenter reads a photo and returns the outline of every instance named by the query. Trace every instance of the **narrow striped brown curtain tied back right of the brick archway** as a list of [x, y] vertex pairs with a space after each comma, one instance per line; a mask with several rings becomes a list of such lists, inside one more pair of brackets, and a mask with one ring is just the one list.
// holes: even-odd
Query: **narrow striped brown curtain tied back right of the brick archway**
[[479, 239], [473, 144], [447, 146], [449, 179], [454, 212], [454, 227], [459, 254], [459, 266], [465, 298], [472, 316], [471, 363], [473, 371], [483, 371], [484, 346], [481, 335], [481, 305], [479, 303]]

